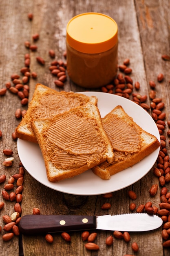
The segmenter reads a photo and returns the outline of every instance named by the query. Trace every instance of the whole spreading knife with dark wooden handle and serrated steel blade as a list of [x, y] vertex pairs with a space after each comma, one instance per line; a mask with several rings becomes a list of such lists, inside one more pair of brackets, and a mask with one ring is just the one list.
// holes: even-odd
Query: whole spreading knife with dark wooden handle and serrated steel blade
[[25, 215], [19, 222], [19, 230], [25, 235], [88, 229], [138, 232], [157, 229], [162, 223], [163, 221], [159, 216], [147, 213], [127, 213], [97, 217], [79, 215]]

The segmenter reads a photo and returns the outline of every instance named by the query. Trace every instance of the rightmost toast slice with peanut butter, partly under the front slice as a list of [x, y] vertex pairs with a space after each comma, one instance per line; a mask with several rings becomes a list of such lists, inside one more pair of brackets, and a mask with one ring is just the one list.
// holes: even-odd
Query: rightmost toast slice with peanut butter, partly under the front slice
[[160, 146], [158, 139], [139, 127], [121, 106], [109, 112], [102, 124], [115, 155], [113, 163], [104, 162], [92, 169], [103, 180], [136, 164]]

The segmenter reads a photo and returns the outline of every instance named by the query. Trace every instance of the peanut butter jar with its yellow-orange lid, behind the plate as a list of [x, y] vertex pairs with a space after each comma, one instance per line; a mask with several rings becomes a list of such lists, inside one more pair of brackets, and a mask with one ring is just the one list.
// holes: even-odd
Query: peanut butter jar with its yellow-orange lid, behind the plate
[[82, 13], [66, 27], [67, 72], [84, 88], [109, 84], [117, 74], [118, 28], [102, 13]]

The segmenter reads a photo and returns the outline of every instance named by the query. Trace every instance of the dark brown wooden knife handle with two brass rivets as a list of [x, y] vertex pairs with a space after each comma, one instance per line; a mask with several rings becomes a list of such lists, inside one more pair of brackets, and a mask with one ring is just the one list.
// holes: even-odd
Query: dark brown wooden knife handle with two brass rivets
[[19, 230], [25, 235], [85, 229], [96, 229], [95, 216], [25, 215], [19, 222]]

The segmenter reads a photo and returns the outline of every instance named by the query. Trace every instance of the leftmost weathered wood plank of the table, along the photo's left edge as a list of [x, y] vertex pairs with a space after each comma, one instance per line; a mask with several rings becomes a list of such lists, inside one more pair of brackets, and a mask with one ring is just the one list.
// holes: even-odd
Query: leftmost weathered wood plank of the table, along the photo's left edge
[[[27, 6], [27, 7], [26, 7]], [[24, 66], [24, 39], [29, 34], [29, 20], [27, 19], [27, 8], [31, 7], [30, 1], [1, 1], [0, 2], [0, 88], [5, 87], [5, 83], [11, 81], [11, 74], [20, 74], [20, 69]], [[0, 139], [0, 175], [5, 174], [7, 179], [0, 185], [1, 191], [4, 184], [8, 182], [9, 177], [19, 171], [19, 162], [17, 144], [12, 139], [12, 132], [19, 124], [15, 118], [15, 110], [22, 108], [20, 99], [7, 91], [7, 94], [0, 97], [0, 130], [2, 138]], [[22, 109], [25, 109], [23, 107]], [[7, 156], [3, 155], [3, 149], [11, 148], [13, 150], [13, 167], [4, 167], [2, 162]], [[16, 184], [14, 187], [14, 191]], [[10, 191], [11, 192], [11, 191]], [[4, 202], [4, 208], [0, 210], [0, 226], [4, 227], [3, 215], [13, 213], [15, 202], [6, 201], [2, 198], [0, 192], [0, 202]], [[6, 233], [2, 230], [0, 235], [0, 252], [2, 255], [19, 255], [18, 236], [15, 236], [9, 242], [2, 241], [2, 235]]]

